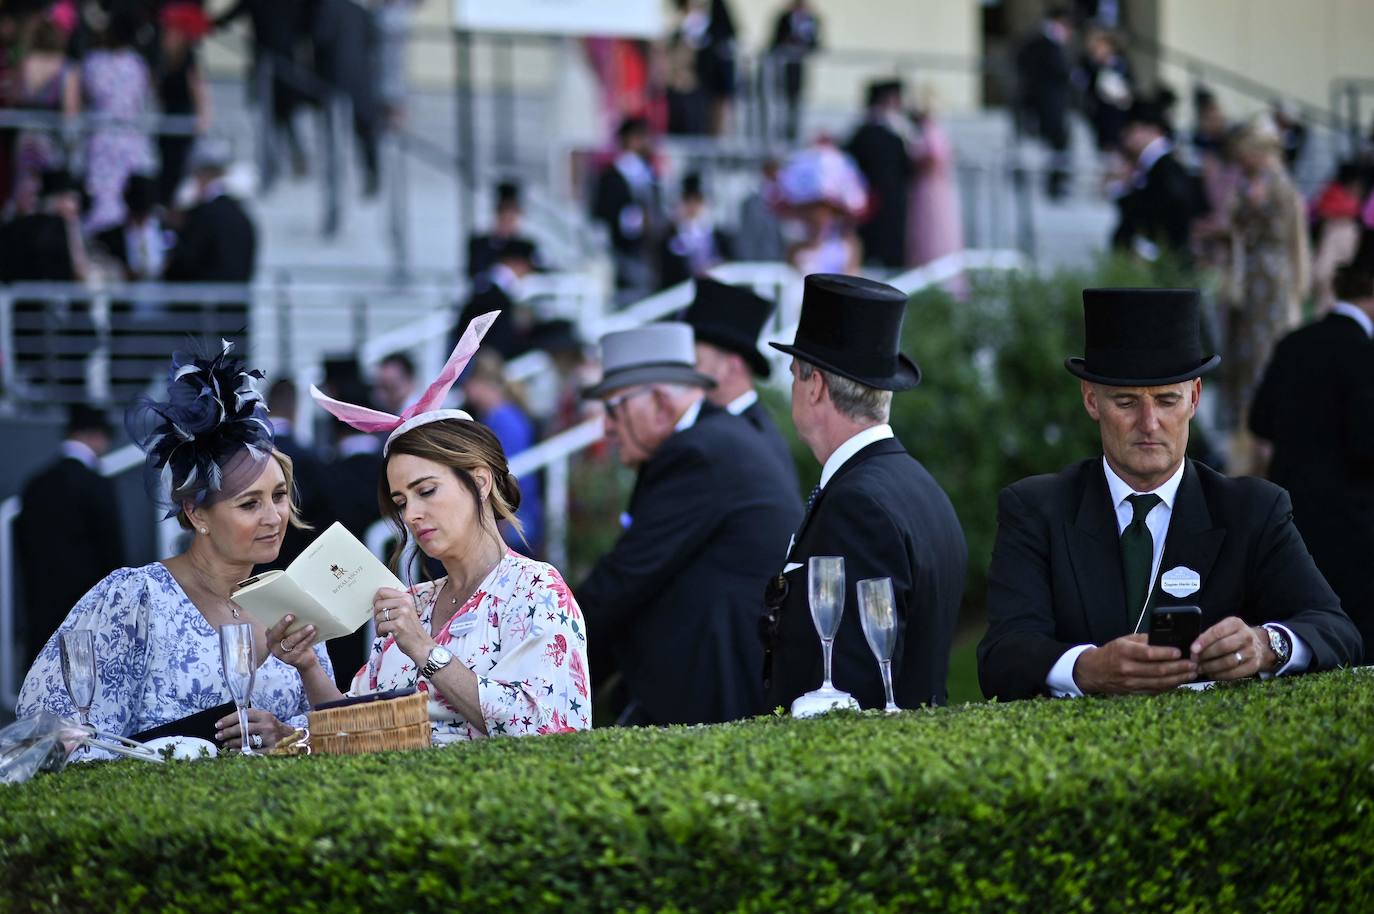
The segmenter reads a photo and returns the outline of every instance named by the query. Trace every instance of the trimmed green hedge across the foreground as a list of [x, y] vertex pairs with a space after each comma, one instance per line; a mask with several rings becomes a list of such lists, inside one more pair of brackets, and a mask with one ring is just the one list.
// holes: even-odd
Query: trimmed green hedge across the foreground
[[1369, 911], [1374, 676], [0, 788], [12, 911]]

